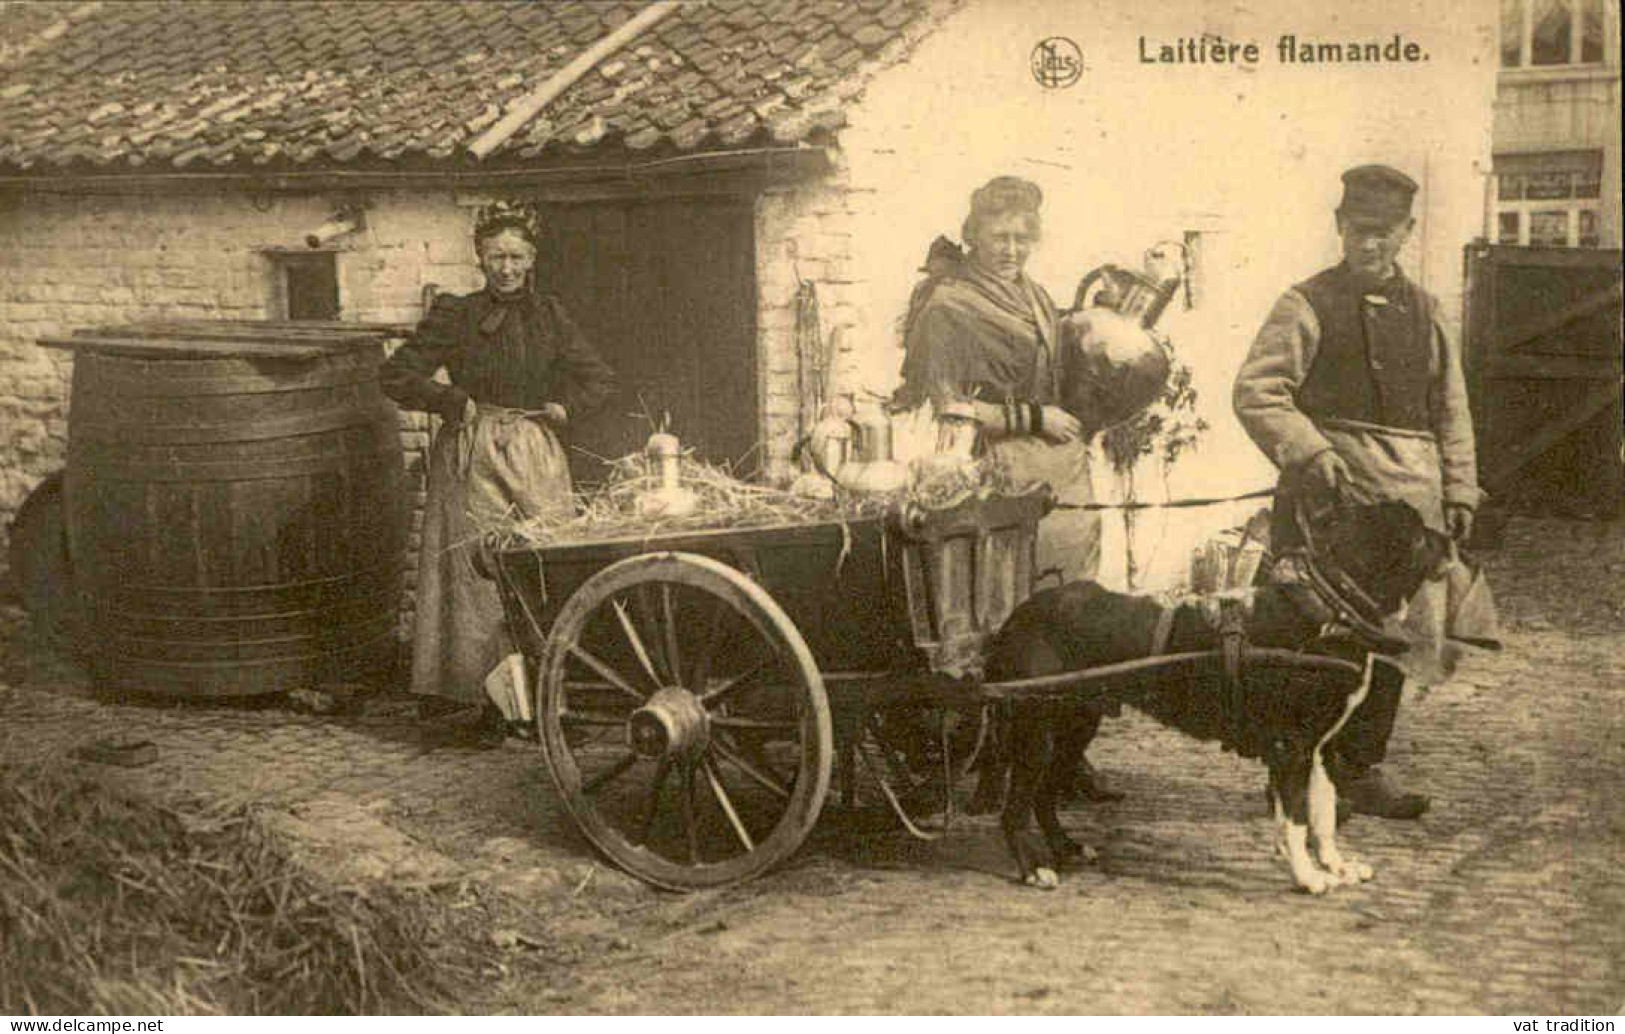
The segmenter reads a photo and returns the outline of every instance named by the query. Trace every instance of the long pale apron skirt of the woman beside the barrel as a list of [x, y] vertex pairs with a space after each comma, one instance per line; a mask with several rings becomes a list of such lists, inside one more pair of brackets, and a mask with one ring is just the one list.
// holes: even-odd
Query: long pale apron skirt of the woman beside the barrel
[[559, 439], [520, 410], [479, 406], [429, 447], [418, 559], [413, 693], [476, 702], [484, 676], [514, 652], [497, 587], [474, 567], [481, 538], [504, 522], [570, 506]]

